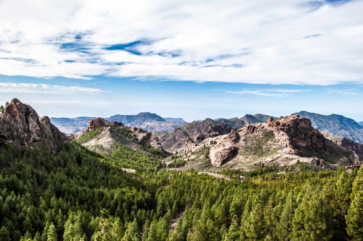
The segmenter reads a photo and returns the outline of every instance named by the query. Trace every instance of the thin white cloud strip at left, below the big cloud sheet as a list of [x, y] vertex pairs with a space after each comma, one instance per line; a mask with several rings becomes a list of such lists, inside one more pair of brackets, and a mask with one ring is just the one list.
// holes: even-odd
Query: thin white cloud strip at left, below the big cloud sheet
[[62, 86], [35, 83], [0, 83], [0, 92], [3, 93], [45, 93], [45, 94], [99, 94], [106, 92], [102, 89], [85, 88], [78, 86]]

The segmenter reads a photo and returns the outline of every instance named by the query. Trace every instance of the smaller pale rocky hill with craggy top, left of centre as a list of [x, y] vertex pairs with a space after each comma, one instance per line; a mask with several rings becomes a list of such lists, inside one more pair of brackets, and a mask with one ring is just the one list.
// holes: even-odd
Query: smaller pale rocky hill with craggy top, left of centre
[[160, 156], [169, 154], [164, 151], [158, 137], [150, 131], [125, 126], [117, 121], [109, 122], [103, 118], [90, 120], [86, 130], [72, 133], [69, 137], [97, 152], [112, 153], [121, 145]]

